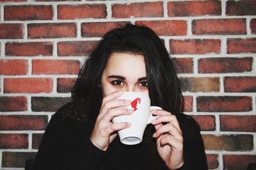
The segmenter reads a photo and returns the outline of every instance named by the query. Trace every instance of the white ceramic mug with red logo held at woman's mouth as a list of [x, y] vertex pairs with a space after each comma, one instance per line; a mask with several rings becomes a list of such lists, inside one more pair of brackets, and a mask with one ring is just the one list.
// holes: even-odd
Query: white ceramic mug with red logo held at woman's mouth
[[118, 99], [131, 100], [131, 105], [126, 107], [132, 109], [131, 115], [121, 115], [113, 118], [113, 123], [130, 122], [131, 127], [118, 130], [120, 141], [124, 144], [141, 143], [145, 128], [149, 123], [156, 120], [158, 116], [153, 116], [152, 110], [161, 107], [150, 106], [150, 98], [147, 95], [137, 92], [124, 92]]

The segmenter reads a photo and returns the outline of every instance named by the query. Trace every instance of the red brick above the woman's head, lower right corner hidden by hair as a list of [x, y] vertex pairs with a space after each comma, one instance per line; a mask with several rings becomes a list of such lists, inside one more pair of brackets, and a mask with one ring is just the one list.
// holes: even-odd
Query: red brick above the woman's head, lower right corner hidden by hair
[[82, 36], [103, 36], [108, 31], [117, 27], [123, 27], [129, 22], [87, 22], [82, 24]]

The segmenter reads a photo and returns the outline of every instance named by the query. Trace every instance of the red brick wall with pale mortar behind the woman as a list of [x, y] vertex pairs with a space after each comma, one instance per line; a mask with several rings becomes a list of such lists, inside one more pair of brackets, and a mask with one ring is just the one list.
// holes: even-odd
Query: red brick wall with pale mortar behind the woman
[[255, 0], [52, 1], [0, 0], [0, 169], [35, 157], [83, 56], [127, 22], [152, 27], [182, 66], [209, 169], [255, 162]]

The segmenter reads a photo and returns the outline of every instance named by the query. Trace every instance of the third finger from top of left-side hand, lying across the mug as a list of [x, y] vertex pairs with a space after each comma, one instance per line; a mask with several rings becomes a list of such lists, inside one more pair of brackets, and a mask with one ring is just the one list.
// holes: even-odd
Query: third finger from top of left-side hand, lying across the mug
[[108, 123], [111, 121], [115, 116], [120, 115], [129, 115], [132, 114], [132, 109], [127, 109], [124, 107], [116, 107], [114, 109], [109, 109], [103, 116], [102, 116], [102, 122]]

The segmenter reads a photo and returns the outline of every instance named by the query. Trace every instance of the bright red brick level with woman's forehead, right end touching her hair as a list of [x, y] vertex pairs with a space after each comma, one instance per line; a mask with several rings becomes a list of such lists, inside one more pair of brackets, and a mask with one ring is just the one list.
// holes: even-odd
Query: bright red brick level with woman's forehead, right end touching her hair
[[33, 74], [77, 74], [80, 62], [77, 60], [34, 59]]

